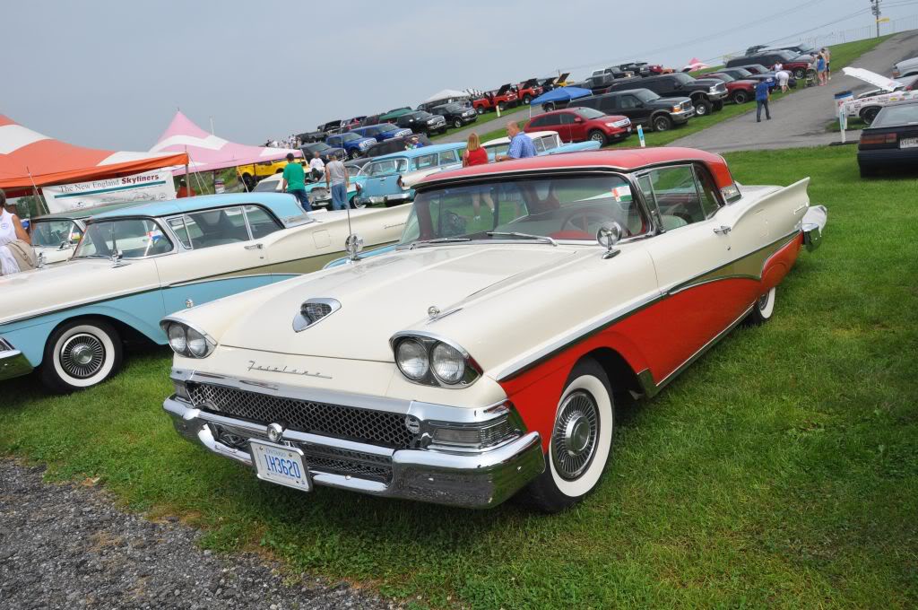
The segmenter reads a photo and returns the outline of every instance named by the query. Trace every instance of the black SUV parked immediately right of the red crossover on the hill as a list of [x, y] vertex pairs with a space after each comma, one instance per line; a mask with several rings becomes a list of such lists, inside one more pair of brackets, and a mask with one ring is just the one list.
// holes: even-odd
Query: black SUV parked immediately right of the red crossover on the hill
[[634, 125], [655, 131], [671, 130], [695, 116], [690, 97], [660, 97], [649, 89], [629, 89], [601, 96], [580, 97], [567, 107], [588, 107], [608, 115], [622, 115]]

